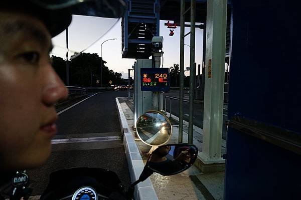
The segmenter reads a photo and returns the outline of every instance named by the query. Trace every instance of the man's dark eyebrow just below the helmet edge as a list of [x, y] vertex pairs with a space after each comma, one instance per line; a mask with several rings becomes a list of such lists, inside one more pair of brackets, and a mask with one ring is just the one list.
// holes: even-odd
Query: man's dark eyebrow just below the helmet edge
[[47, 35], [42, 30], [38, 29], [33, 24], [23, 20], [6, 23], [3, 31], [8, 35], [16, 35], [21, 32], [29, 34], [43, 47], [49, 43]]

